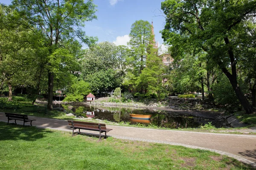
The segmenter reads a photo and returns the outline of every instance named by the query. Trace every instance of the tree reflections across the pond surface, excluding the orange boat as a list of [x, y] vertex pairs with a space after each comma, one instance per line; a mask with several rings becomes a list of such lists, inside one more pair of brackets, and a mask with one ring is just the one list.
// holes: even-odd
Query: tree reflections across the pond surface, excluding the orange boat
[[[67, 105], [63, 105], [64, 109], [68, 109]], [[97, 106], [90, 107], [85, 105], [74, 105], [76, 107], [75, 114], [77, 116], [86, 116], [87, 111], [94, 111], [95, 116], [93, 119], [108, 120], [111, 122], [130, 122], [131, 113], [134, 114], [151, 114], [151, 124], [157, 125], [158, 127], [166, 128], [189, 128], [189, 127], [199, 127], [201, 124], [207, 122], [214, 122], [214, 120], [209, 120], [202, 117], [194, 117], [188, 113], [179, 113], [171, 111], [151, 111], [147, 109], [137, 109], [129, 107], [105, 107]], [[73, 113], [70, 109], [70, 112]], [[145, 125], [147, 125], [145, 123]]]

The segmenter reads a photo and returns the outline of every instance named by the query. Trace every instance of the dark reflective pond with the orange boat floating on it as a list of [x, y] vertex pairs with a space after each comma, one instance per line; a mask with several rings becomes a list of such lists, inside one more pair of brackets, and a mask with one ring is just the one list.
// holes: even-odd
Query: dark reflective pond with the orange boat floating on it
[[[216, 119], [217, 114], [193, 114], [179, 111], [160, 111], [132, 107], [72, 105], [76, 111], [68, 108], [69, 105], [62, 105], [67, 113], [74, 113], [76, 116], [91, 117], [92, 119], [108, 120], [111, 122], [125, 122], [144, 125], [156, 125], [167, 128], [197, 128], [212, 122], [215, 127], [227, 127], [226, 119]], [[148, 114], [150, 119], [132, 119], [129, 114]]]

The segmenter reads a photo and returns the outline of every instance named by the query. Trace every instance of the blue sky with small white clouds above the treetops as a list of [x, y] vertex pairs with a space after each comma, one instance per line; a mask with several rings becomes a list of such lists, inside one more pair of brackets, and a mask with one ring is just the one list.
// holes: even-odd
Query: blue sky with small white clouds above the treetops
[[[129, 40], [131, 25], [136, 20], [153, 21], [155, 40], [160, 46], [163, 39], [159, 31], [165, 23], [160, 10], [162, 1], [164, 0], [94, 0], [98, 6], [98, 19], [85, 23], [84, 31], [88, 36], [98, 37], [99, 42], [124, 45]], [[11, 0], [0, 0], [0, 3], [9, 4]]]

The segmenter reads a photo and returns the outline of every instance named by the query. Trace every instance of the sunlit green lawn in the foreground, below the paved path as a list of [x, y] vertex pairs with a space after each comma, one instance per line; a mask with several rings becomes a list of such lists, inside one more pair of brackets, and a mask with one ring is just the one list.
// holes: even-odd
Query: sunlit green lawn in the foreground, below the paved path
[[0, 122], [1, 170], [250, 170], [206, 150]]

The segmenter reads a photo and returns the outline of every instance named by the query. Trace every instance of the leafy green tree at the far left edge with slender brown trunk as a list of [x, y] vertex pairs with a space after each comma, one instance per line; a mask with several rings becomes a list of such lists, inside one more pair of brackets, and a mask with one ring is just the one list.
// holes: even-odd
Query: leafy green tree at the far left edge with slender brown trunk
[[[35, 49], [32, 45], [37, 37], [22, 25], [13, 23], [15, 11], [8, 6], [0, 6], [0, 73], [1, 87], [4, 83], [9, 88], [9, 101], [12, 101], [12, 90], [15, 85], [34, 86], [36, 69]], [[39, 52], [38, 52], [39, 53]]]

